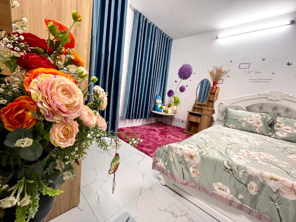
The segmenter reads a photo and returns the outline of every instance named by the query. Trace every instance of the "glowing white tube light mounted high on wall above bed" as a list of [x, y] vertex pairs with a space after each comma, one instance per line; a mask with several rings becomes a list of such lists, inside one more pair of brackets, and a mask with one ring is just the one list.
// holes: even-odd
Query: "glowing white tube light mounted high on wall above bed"
[[291, 24], [293, 24], [293, 22], [294, 22], [294, 20], [292, 20], [292, 21], [273, 22], [273, 23], [266, 24], [266, 25], [261, 25], [261, 26], [255, 27], [255, 28], [237, 30], [237, 31], [233, 31], [233, 32], [230, 32], [230, 33], [222, 33], [219, 36], [216, 36], [216, 38], [225, 38], [225, 37], [229, 37], [229, 36], [237, 36], [237, 35], [240, 35], [240, 34], [256, 32], [256, 31], [265, 30], [265, 29], [269, 29], [269, 28], [276, 28], [276, 27], [280, 27], [280, 26], [284, 26], [284, 25], [291, 25]]

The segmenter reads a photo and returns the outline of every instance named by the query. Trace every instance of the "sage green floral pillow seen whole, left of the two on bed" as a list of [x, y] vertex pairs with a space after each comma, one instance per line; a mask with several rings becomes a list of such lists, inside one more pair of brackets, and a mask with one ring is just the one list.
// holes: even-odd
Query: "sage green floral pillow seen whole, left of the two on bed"
[[273, 135], [272, 122], [276, 114], [247, 112], [225, 108], [224, 126], [242, 131]]

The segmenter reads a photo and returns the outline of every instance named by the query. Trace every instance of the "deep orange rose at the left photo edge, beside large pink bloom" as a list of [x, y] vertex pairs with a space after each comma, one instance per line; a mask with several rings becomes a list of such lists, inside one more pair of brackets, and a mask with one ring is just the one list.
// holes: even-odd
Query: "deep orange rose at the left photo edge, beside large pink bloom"
[[31, 111], [37, 112], [37, 104], [30, 96], [19, 96], [14, 102], [7, 104], [7, 107], [1, 108], [0, 117], [4, 127], [10, 131], [16, 128], [29, 129], [36, 124], [36, 119]]

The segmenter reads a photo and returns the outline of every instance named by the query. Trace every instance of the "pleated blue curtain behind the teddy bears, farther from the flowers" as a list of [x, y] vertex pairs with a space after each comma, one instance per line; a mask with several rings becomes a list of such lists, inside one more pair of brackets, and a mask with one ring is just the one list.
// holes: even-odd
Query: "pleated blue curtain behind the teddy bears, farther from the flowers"
[[123, 119], [150, 117], [155, 97], [166, 94], [172, 39], [134, 13]]

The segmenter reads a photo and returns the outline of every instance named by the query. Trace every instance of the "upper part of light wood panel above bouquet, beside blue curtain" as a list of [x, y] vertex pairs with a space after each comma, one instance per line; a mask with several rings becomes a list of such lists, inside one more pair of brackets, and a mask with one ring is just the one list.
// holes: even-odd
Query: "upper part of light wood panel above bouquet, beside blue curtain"
[[12, 19], [26, 17], [29, 25], [27, 32], [44, 39], [48, 37], [44, 18], [56, 19], [69, 28], [73, 23], [71, 12], [77, 10], [82, 16], [80, 22], [82, 28], [74, 25], [71, 32], [76, 41], [75, 50], [83, 58], [84, 67], [89, 69], [92, 0], [18, 0], [18, 2], [20, 7], [12, 10]]

